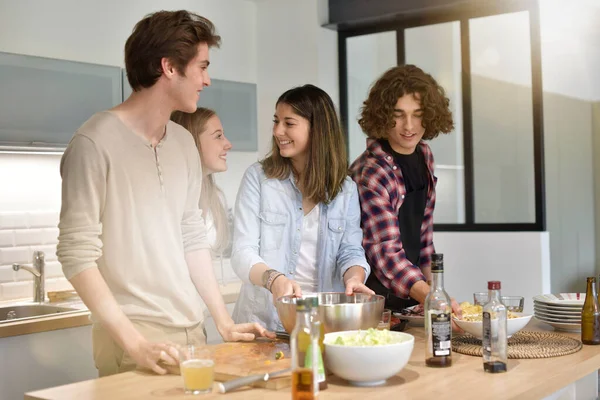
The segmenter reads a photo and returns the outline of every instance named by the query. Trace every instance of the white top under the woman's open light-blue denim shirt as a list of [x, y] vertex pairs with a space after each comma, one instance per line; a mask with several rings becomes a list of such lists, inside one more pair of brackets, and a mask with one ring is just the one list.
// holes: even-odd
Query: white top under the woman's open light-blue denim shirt
[[319, 219], [321, 212], [317, 204], [302, 218], [302, 239], [300, 255], [296, 265], [296, 282], [303, 292], [316, 292], [319, 286], [317, 271], [317, 241], [319, 239]]

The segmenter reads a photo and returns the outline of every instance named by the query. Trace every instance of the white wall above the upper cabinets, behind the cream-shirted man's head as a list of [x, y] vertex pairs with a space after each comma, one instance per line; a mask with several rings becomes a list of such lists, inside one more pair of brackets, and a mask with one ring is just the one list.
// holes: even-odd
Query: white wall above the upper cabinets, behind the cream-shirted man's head
[[19, 0], [0, 7], [0, 51], [116, 66], [124, 66], [123, 48], [136, 22], [154, 11], [187, 9], [210, 19], [223, 39], [211, 53], [211, 75], [256, 82], [252, 1]]

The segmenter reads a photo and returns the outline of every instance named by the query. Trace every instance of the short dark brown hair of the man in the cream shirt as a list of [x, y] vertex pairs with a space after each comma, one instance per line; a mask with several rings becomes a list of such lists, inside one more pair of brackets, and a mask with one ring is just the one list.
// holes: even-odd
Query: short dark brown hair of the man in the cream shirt
[[149, 88], [162, 75], [161, 60], [168, 58], [177, 72], [198, 53], [198, 45], [219, 47], [221, 37], [208, 19], [189, 11], [158, 11], [148, 14], [133, 28], [125, 43], [125, 70], [134, 91]]

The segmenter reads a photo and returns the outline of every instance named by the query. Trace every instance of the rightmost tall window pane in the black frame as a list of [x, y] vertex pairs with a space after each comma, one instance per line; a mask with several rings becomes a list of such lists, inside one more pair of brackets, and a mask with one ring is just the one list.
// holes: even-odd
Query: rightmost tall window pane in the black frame
[[476, 223], [534, 223], [529, 14], [469, 21]]

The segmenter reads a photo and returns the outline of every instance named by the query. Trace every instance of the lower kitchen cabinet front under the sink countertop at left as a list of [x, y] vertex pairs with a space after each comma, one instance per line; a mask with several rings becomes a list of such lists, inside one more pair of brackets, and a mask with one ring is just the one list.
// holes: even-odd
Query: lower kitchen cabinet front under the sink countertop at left
[[98, 377], [91, 325], [0, 339], [0, 399]]

